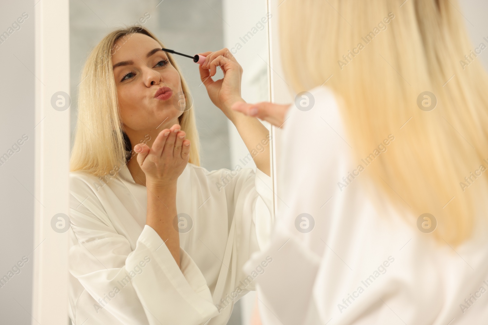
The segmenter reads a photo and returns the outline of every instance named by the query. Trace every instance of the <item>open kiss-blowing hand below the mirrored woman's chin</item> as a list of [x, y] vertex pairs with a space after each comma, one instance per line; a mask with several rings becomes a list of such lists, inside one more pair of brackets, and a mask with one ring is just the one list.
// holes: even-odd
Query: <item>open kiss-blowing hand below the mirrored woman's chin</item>
[[161, 131], [151, 148], [139, 143], [134, 146], [137, 162], [146, 175], [147, 188], [168, 188], [176, 185], [188, 163], [190, 140], [178, 124]]

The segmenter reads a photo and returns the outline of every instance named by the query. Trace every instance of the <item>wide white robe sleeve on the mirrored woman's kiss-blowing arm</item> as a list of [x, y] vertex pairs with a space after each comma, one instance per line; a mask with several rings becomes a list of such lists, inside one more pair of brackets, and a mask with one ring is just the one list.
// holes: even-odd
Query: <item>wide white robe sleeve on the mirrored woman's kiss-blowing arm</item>
[[202, 272], [183, 249], [180, 269], [148, 225], [131, 249], [92, 188], [78, 177], [70, 182], [69, 231], [76, 244], [68, 268], [98, 302], [93, 317], [103, 309], [121, 324], [198, 325], [218, 314]]

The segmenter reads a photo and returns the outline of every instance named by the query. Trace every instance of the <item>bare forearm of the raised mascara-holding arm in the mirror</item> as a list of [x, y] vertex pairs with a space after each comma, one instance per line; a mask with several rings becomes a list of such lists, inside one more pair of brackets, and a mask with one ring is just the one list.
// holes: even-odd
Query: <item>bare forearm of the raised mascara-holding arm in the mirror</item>
[[[256, 117], [246, 116], [239, 112], [229, 119], [236, 126], [247, 150], [251, 153], [256, 167], [266, 175], [271, 175], [269, 154], [269, 131]], [[261, 149], [261, 148], [264, 148]], [[261, 152], [260, 152], [261, 151]]]

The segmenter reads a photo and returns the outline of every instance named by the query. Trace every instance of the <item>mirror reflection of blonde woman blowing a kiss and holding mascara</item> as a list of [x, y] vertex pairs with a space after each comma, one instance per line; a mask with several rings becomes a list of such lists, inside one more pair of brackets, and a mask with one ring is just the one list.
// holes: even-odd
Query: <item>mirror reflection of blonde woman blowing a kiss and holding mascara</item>
[[[70, 173], [74, 324], [225, 324], [252, 289], [228, 296], [271, 224], [269, 152], [255, 153], [268, 132], [230, 110], [243, 101], [235, 58], [204, 53], [202, 81], [257, 170], [199, 167], [191, 96], [161, 48], [145, 29], [121, 29], [85, 63]], [[214, 81], [217, 66], [224, 79]]]

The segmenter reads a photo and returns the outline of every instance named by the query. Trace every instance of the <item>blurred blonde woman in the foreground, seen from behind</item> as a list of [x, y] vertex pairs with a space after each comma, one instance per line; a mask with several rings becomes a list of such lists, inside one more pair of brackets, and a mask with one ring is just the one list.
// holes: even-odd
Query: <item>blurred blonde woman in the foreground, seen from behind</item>
[[488, 319], [486, 43], [457, 2], [280, 5], [295, 103], [233, 106], [283, 125], [276, 231], [244, 268], [273, 259], [264, 325]]

